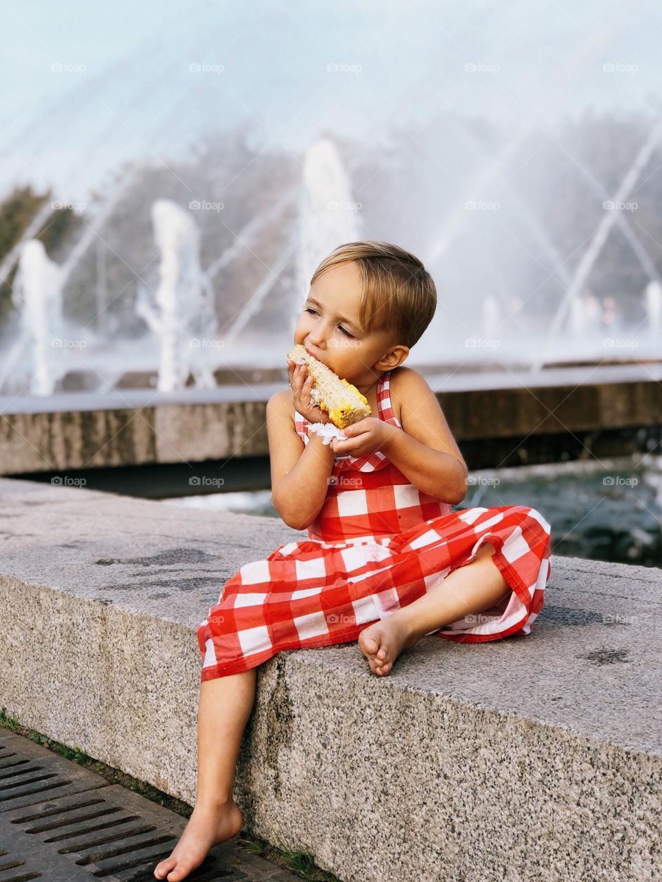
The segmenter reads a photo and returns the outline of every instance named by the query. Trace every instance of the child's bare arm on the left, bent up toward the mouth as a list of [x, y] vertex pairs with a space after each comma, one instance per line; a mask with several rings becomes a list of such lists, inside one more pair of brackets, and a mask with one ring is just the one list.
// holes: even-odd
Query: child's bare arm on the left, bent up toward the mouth
[[290, 390], [267, 402], [267, 436], [271, 460], [271, 499], [276, 512], [295, 530], [317, 517], [327, 498], [335, 452], [311, 433], [307, 445], [297, 435]]

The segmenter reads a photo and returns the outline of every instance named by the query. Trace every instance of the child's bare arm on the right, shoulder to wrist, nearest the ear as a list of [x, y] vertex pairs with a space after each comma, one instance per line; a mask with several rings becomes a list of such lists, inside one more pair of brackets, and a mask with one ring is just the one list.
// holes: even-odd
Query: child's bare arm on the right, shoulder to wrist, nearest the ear
[[390, 432], [382, 452], [422, 493], [457, 505], [467, 493], [467, 465], [437, 396], [418, 371], [393, 372], [391, 395], [401, 402], [402, 429]]

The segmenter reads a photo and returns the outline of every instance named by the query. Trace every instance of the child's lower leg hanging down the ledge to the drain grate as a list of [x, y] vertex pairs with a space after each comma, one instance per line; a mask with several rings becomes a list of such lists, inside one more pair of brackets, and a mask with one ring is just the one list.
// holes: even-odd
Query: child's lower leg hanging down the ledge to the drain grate
[[255, 698], [257, 670], [200, 683], [195, 807], [172, 854], [156, 864], [156, 878], [167, 878], [168, 882], [186, 878], [210, 848], [241, 830], [243, 818], [232, 798], [232, 784]]

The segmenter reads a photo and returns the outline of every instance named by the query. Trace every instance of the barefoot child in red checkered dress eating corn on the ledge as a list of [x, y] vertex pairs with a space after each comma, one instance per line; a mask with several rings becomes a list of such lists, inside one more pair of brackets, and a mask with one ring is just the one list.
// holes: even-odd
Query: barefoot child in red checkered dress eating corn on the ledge
[[272, 499], [307, 538], [244, 564], [199, 624], [198, 793], [154, 876], [176, 882], [242, 827], [232, 787], [257, 669], [284, 649], [357, 641], [376, 676], [435, 634], [523, 636], [543, 607], [550, 527], [523, 505], [470, 508], [467, 467], [425, 379], [401, 367], [436, 308], [408, 251], [342, 245], [315, 271], [294, 342], [365, 395], [372, 415], [325, 445], [305, 365], [267, 404]]

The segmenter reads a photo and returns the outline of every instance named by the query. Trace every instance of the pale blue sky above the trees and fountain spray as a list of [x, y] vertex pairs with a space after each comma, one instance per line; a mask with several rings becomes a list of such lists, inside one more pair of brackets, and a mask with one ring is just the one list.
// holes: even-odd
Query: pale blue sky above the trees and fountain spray
[[167, 162], [246, 119], [299, 150], [328, 129], [413, 134], [448, 108], [504, 131], [657, 116], [660, 32], [652, 0], [4, 0], [0, 192], [84, 200], [121, 161]]

